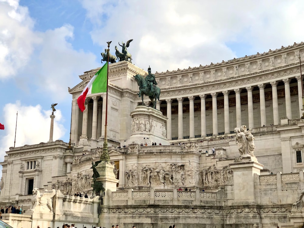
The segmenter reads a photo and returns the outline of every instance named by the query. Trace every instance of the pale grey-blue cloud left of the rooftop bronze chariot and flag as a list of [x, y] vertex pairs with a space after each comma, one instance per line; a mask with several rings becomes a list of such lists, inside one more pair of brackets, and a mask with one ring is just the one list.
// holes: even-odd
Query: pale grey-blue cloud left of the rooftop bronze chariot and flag
[[64, 25], [40, 33], [39, 64], [31, 64], [39, 92], [50, 93], [55, 100], [68, 98], [67, 87], [77, 85], [82, 72], [97, 67], [96, 56], [83, 50], [74, 50], [74, 28]]

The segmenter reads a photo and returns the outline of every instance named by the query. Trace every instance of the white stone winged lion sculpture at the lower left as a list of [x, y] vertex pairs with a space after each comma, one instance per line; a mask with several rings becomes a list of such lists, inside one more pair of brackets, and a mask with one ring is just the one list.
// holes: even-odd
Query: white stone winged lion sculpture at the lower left
[[42, 209], [48, 209], [49, 212], [53, 212], [52, 198], [55, 194], [55, 189], [52, 189], [50, 191], [45, 190], [44, 193], [40, 193], [39, 188], [34, 188], [32, 206], [30, 210], [34, 211], [37, 206], [41, 206]]

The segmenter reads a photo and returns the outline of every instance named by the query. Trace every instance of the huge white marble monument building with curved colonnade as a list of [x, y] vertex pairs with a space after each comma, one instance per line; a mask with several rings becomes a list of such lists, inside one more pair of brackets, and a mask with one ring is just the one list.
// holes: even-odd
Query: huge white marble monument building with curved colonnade
[[[167, 118], [168, 144], [174, 144], [168, 146], [152, 146], [146, 137], [142, 139], [146, 147], [130, 142], [134, 133], [130, 113], [141, 104], [133, 75], [147, 72], [128, 62], [110, 64], [107, 136], [119, 183], [117, 192], [106, 192], [100, 225], [167, 227], [163, 217], [179, 226], [198, 219], [210, 227], [242, 227], [242, 223], [296, 227], [288, 216], [304, 189], [299, 55], [304, 58], [303, 42], [222, 63], [156, 72], [161, 88], [157, 109]], [[73, 99], [71, 150], [68, 143], [56, 140], [11, 147], [6, 152], [1, 163], [3, 206], [23, 203], [29, 207], [32, 188], [91, 194], [90, 167], [99, 160], [105, 135], [105, 93], [89, 97], [83, 113], [76, 102], [98, 70], [86, 71], [79, 76], [82, 81], [69, 88]], [[145, 99], [145, 104], [150, 102]], [[257, 158], [250, 163], [252, 178], [241, 178], [244, 183], [236, 180], [242, 177], [239, 166], [243, 164], [235, 161], [239, 152], [233, 132], [241, 125], [253, 129]], [[161, 127], [155, 126], [155, 135], [162, 134], [163, 139]], [[117, 148], [124, 145], [128, 147]], [[251, 193], [237, 187], [242, 183], [251, 186]], [[195, 191], [178, 192], [179, 187]], [[247, 196], [251, 198], [245, 202]], [[150, 215], [151, 205], [158, 217]]]

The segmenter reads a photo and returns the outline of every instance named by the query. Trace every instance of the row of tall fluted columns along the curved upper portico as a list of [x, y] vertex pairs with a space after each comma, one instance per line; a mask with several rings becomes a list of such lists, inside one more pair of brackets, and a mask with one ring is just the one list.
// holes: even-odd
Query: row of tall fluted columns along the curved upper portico
[[[301, 85], [301, 77], [296, 77], [298, 81], [298, 94], [299, 94], [299, 117], [302, 116], [302, 85]], [[285, 107], [286, 107], [286, 116], [288, 119], [292, 119], [292, 109], [291, 109], [291, 97], [290, 97], [290, 78], [285, 78], [282, 80], [285, 85]], [[278, 93], [277, 93], [277, 85], [278, 81], [271, 81], [269, 84], [272, 87], [272, 107], [273, 107], [273, 124], [279, 124], [279, 112], [278, 112]], [[261, 117], [261, 126], [266, 125], [266, 106], [265, 106], [265, 84], [257, 85], [260, 92], [260, 117]], [[247, 128], [254, 127], [254, 116], [253, 116], [253, 100], [252, 100], [252, 90], [253, 86], [246, 87], [247, 97], [248, 97], [248, 124]], [[241, 88], [233, 89], [236, 95], [236, 123], [237, 126], [240, 127], [242, 125], [241, 119], [241, 99], [240, 92]], [[225, 124], [225, 132], [224, 134], [230, 133], [230, 113], [229, 113], [229, 90], [222, 91], [224, 95], [224, 124]], [[218, 135], [218, 119], [217, 119], [217, 96], [219, 92], [209, 93], [212, 97], [212, 135]], [[199, 97], [201, 99], [201, 136], [206, 136], [206, 95], [208, 94], [200, 94]], [[178, 101], [178, 139], [183, 139], [183, 100], [185, 97], [177, 97]], [[187, 97], [189, 99], [189, 138], [194, 138], [194, 100], [195, 97], [193, 95]], [[173, 99], [166, 99], [167, 103], [167, 138], [169, 140], [172, 139], [172, 120], [171, 120], [171, 103]], [[159, 109], [159, 107], [158, 107]]]

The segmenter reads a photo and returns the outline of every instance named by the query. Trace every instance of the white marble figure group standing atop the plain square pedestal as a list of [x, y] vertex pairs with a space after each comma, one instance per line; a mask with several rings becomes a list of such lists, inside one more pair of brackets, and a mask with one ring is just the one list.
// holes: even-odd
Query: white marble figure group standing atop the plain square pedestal
[[240, 157], [254, 157], [254, 136], [251, 134], [251, 129], [247, 131], [247, 127], [242, 125], [240, 128], [234, 129], [236, 133], [235, 143], [239, 146]]

